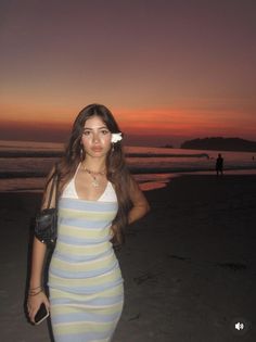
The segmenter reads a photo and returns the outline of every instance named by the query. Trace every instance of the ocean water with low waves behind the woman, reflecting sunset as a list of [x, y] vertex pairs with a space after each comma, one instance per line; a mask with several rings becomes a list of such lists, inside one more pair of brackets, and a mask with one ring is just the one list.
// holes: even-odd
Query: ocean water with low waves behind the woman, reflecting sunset
[[[42, 191], [46, 175], [60, 159], [62, 143], [0, 141], [0, 191]], [[256, 170], [256, 152], [126, 147], [127, 163], [143, 190], [164, 187], [183, 173], [215, 172], [218, 153], [225, 170]]]

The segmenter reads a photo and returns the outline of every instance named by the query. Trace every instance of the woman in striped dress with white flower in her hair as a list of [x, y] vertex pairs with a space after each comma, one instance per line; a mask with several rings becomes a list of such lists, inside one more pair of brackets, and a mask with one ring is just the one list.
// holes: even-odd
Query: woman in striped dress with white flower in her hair
[[[77, 116], [59, 174], [57, 241], [49, 267], [50, 301], [43, 292], [46, 245], [34, 239], [28, 314], [44, 303], [55, 342], [111, 341], [123, 304], [123, 278], [112, 239], [149, 204], [128, 172], [121, 134], [104, 105]], [[54, 169], [46, 187], [49, 197]]]

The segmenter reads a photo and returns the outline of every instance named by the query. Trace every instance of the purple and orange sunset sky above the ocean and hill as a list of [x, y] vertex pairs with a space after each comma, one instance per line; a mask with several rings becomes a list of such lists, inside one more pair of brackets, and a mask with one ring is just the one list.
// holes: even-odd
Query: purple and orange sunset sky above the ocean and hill
[[129, 144], [256, 140], [255, 0], [0, 0], [0, 140], [108, 106]]

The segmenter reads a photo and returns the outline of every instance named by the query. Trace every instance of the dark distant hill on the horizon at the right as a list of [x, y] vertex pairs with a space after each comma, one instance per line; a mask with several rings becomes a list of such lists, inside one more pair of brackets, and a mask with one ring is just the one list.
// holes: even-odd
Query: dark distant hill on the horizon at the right
[[256, 141], [240, 138], [203, 138], [184, 141], [181, 149], [256, 152]]

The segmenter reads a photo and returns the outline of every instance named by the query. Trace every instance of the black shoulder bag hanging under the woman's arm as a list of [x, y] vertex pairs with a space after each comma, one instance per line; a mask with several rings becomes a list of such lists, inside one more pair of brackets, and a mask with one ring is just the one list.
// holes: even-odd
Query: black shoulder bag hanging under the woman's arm
[[[40, 211], [36, 216], [36, 223], [35, 223], [35, 236], [36, 238], [46, 243], [48, 246], [54, 246], [56, 242], [56, 230], [57, 230], [57, 173], [55, 172], [51, 189], [50, 189], [50, 195], [48, 199], [48, 205], [47, 208]], [[53, 195], [53, 189], [55, 188], [55, 205], [54, 207], [50, 207], [52, 195]]]

